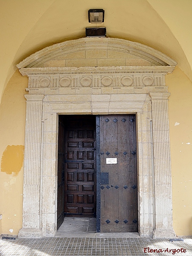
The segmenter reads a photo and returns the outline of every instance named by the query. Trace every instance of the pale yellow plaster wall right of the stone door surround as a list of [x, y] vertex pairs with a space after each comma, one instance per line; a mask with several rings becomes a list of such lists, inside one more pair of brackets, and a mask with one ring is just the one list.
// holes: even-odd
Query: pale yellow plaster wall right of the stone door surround
[[172, 159], [173, 226], [192, 235], [192, 82], [176, 67], [166, 76]]

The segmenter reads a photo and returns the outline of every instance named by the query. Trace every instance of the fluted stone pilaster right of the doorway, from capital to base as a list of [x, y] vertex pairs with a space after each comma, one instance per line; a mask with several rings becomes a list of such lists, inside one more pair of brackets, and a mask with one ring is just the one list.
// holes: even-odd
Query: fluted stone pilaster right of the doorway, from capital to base
[[154, 147], [154, 238], [175, 237], [172, 226], [172, 179], [168, 116], [169, 95], [170, 93], [150, 93]]

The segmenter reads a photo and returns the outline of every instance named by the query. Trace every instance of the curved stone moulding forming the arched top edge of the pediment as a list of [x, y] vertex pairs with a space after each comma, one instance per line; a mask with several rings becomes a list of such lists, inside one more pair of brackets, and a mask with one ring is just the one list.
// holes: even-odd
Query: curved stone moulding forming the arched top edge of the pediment
[[154, 66], [176, 66], [177, 62], [156, 49], [144, 44], [118, 38], [80, 38], [46, 47], [25, 58], [17, 68], [41, 67], [41, 64], [56, 56], [89, 49], [110, 49], [129, 53], [151, 61]]

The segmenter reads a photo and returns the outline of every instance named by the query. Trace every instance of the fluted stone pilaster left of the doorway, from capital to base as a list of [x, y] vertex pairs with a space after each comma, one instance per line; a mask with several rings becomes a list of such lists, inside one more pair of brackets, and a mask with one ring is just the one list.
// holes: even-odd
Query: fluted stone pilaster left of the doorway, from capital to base
[[25, 95], [26, 137], [23, 180], [23, 227], [20, 237], [41, 237], [40, 165], [44, 95]]

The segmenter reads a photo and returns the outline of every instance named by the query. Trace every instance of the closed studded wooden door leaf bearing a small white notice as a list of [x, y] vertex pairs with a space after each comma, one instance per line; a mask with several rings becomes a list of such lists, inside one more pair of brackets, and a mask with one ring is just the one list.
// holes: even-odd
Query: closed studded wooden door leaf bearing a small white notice
[[101, 232], [137, 232], [135, 115], [100, 116]]

